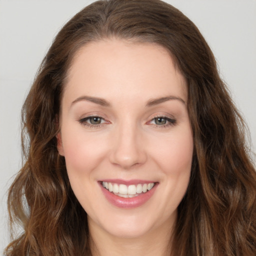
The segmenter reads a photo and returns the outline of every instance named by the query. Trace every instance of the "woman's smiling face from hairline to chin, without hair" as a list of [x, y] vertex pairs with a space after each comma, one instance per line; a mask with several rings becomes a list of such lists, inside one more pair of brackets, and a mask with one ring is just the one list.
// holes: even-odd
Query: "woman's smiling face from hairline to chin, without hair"
[[139, 237], [175, 222], [193, 152], [186, 103], [161, 46], [109, 39], [76, 53], [58, 150], [91, 230]]

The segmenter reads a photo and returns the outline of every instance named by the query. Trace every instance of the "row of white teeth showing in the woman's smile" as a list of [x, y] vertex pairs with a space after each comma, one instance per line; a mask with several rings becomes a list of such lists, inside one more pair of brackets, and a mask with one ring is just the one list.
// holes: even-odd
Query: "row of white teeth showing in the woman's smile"
[[112, 184], [110, 182], [102, 181], [102, 186], [105, 187], [109, 192], [113, 192], [114, 194], [121, 197], [134, 197], [142, 192], [146, 192], [150, 190], [154, 183], [144, 183], [137, 185], [124, 185], [124, 184]]

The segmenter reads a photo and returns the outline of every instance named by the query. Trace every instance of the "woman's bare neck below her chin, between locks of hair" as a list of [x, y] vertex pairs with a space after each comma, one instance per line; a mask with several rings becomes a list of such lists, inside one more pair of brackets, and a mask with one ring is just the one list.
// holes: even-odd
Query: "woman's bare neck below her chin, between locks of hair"
[[172, 225], [166, 222], [139, 237], [114, 236], [91, 222], [89, 230], [92, 256], [169, 256], [171, 253]]

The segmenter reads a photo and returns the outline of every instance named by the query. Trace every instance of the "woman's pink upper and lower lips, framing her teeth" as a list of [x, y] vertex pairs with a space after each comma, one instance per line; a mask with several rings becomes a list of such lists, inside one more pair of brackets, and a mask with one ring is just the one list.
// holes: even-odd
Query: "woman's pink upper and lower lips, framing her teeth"
[[[120, 179], [105, 179], [103, 181], [106, 182], [113, 182], [113, 183], [117, 183], [117, 184], [125, 184], [125, 185], [129, 185], [129, 184], [139, 184], [139, 183], [153, 183], [153, 181], [145, 181], [145, 180], [129, 180], [129, 181], [125, 181], [124, 180], [120, 180]], [[117, 182], [118, 181], [118, 182]], [[132, 181], [132, 182], [131, 182]], [[142, 181], [142, 182], [141, 182]], [[118, 208], [135, 208], [135, 207], [139, 207], [140, 205], [144, 204], [146, 201], [148, 201], [150, 199], [150, 197], [154, 194], [156, 187], [158, 186], [158, 182], [155, 183], [155, 185], [147, 192], [145, 193], [141, 193], [137, 196], [134, 197], [120, 197], [118, 195], [115, 195], [111, 192], [109, 192], [107, 189], [105, 189], [101, 182], [98, 182], [101, 191], [103, 192], [104, 196], [106, 197], [106, 199], [114, 206], [118, 207]]]

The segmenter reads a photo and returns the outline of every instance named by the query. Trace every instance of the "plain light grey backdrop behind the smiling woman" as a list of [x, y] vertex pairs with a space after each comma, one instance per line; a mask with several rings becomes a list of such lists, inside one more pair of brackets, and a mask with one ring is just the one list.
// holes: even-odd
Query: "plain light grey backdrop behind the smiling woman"
[[[256, 147], [256, 0], [166, 0], [209, 43]], [[6, 191], [21, 166], [20, 109], [61, 26], [86, 0], [0, 0], [0, 254], [8, 242]]]

